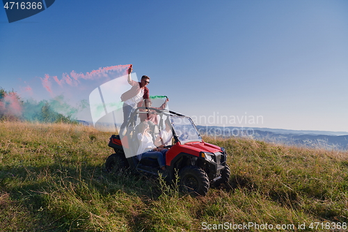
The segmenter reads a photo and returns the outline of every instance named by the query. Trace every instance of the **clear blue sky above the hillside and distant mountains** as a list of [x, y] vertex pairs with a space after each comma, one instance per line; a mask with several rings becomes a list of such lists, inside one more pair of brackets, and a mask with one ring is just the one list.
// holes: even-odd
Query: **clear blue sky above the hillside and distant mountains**
[[348, 132], [347, 0], [56, 0], [13, 23], [0, 9], [6, 90], [50, 98], [46, 74], [130, 63], [198, 125]]

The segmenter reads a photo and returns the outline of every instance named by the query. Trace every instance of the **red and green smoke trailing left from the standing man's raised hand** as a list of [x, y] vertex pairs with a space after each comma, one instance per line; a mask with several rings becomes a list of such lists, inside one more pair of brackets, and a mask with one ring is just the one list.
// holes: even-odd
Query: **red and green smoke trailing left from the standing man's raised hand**
[[[127, 75], [130, 65], [113, 65], [99, 68], [91, 72], [77, 73], [74, 70], [70, 73], [63, 73], [61, 78], [45, 74], [44, 77], [36, 77], [31, 83], [24, 82], [19, 86], [19, 94], [0, 89], [0, 118], [19, 118], [29, 121], [40, 121], [42, 107], [49, 106], [49, 110], [56, 114], [63, 114], [72, 119], [91, 121], [90, 102], [88, 95], [90, 91], [103, 85], [103, 89], [109, 88], [109, 102], [105, 102], [107, 109], [122, 108], [119, 97], [116, 100], [115, 93], [119, 86], [127, 83], [127, 78], [119, 77]], [[109, 86], [110, 80], [118, 79], [118, 85]], [[42, 86], [45, 91], [43, 91]], [[101, 108], [100, 111], [102, 111]], [[54, 115], [54, 113], [52, 113]]]

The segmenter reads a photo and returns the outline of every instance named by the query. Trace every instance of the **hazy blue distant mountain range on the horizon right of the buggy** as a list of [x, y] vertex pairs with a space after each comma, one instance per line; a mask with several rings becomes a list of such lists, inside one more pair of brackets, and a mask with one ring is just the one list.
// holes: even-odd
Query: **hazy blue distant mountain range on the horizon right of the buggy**
[[200, 134], [213, 137], [251, 137], [286, 145], [348, 150], [348, 132], [284, 130], [258, 127], [196, 126]]

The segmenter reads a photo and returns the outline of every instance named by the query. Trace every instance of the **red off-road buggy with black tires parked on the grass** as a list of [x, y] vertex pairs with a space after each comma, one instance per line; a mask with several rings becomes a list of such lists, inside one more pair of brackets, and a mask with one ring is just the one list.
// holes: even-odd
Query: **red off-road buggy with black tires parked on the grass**
[[[139, 118], [141, 114], [155, 114], [158, 125], [152, 128], [152, 134], [158, 136], [165, 129], [164, 120], [170, 119], [173, 140], [166, 153], [166, 171], [159, 169], [157, 160], [136, 158], [139, 141]], [[112, 135], [109, 146], [115, 150], [105, 163], [106, 171], [118, 172], [125, 169], [150, 173], [158, 176], [162, 173], [167, 181], [179, 176], [180, 190], [185, 193], [205, 196], [209, 185], [228, 183], [230, 168], [226, 164], [227, 154], [224, 148], [203, 141], [191, 118], [169, 110], [158, 108], [137, 108], [127, 123], [127, 132], [122, 138]], [[176, 175], [177, 173], [177, 175]]]

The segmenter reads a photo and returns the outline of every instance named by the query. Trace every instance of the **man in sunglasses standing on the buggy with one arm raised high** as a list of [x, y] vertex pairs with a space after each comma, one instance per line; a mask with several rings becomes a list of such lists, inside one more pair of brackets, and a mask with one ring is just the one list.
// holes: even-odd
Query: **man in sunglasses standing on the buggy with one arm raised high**
[[[145, 100], [145, 105], [148, 107], [147, 100], [149, 99], [149, 89], [146, 87], [150, 83], [150, 77], [143, 76], [141, 77], [141, 82], [135, 82], [132, 80], [131, 73], [132, 73], [132, 65], [128, 69], [128, 83], [132, 86], [129, 91], [123, 93], [121, 95], [121, 100], [123, 102], [123, 123], [120, 127], [119, 134], [122, 136], [125, 132], [125, 127], [130, 119], [130, 116], [134, 109], [136, 109], [136, 106], [141, 100]], [[134, 118], [135, 120], [135, 118]]]

